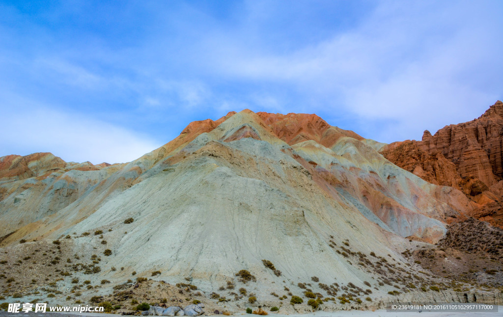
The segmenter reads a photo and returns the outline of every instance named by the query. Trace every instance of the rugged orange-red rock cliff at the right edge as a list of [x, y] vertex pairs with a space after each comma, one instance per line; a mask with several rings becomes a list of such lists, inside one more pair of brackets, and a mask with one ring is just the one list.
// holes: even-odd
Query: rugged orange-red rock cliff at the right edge
[[479, 204], [492, 205], [490, 212], [481, 206], [474, 216], [503, 228], [495, 215], [501, 208], [494, 207], [501, 204], [502, 145], [503, 102], [498, 100], [478, 119], [446, 126], [433, 136], [425, 131], [422, 141], [395, 142], [381, 153], [431, 183], [461, 189]]

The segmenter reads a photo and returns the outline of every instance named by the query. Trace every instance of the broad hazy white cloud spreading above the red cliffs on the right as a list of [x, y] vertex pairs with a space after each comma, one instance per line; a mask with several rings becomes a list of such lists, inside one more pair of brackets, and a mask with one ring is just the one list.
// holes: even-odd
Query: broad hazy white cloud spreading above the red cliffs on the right
[[[205, 51], [214, 72], [289, 84], [312, 102], [312, 112], [340, 111], [342, 105], [364, 123], [394, 122], [375, 132], [362, 126], [367, 137], [420, 138], [425, 129], [434, 133], [478, 117], [501, 98], [498, 8], [497, 3], [382, 2], [356, 28], [293, 52], [271, 53], [260, 41], [243, 44], [235, 32], [210, 37]], [[487, 76], [492, 84], [484, 85]], [[274, 109], [285, 102], [273, 89], [267, 99], [251, 101]], [[300, 109], [297, 103], [287, 111]]]

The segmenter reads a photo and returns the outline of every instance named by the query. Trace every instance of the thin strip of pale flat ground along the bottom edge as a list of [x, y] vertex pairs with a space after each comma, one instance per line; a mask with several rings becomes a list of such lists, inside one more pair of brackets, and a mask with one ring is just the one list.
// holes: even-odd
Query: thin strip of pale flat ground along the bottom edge
[[[0, 317], [4, 316], [14, 316], [14, 315], [23, 315], [24, 313], [11, 313], [6, 311], [0, 311]], [[29, 312], [28, 315], [31, 317], [76, 317], [78, 315], [82, 316], [97, 316], [103, 315], [100, 313], [81, 313], [81, 314], [69, 314], [62, 312], [37, 312], [32, 313]], [[204, 315], [204, 314], [203, 314]], [[235, 315], [248, 315], [246, 313], [238, 313]], [[471, 317], [471, 316], [479, 316], [479, 317], [496, 317], [503, 316], [503, 306], [498, 306], [497, 312], [387, 312], [384, 309], [376, 310], [376, 311], [362, 311], [362, 310], [348, 310], [348, 311], [334, 311], [334, 312], [326, 312], [326, 311], [317, 311], [309, 314], [275, 314], [269, 313], [271, 317]], [[120, 316], [119, 314], [107, 314], [107, 316]], [[254, 316], [254, 315], [250, 315]]]

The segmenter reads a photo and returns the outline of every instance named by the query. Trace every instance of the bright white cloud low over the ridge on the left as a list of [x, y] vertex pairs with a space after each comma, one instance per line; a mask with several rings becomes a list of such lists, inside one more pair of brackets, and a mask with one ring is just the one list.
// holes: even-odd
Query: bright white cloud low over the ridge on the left
[[5, 107], [5, 116], [0, 119], [4, 132], [12, 136], [1, 138], [0, 148], [18, 152], [0, 156], [51, 152], [65, 161], [123, 163], [162, 145], [131, 129], [93, 119], [93, 115], [63, 113], [18, 101], [21, 107]]

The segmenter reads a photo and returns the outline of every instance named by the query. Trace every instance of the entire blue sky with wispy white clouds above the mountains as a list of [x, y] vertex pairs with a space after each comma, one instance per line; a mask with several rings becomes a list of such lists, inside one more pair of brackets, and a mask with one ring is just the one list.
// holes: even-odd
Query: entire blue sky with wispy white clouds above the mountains
[[503, 2], [0, 1], [0, 156], [126, 162], [194, 120], [421, 139], [503, 98]]

